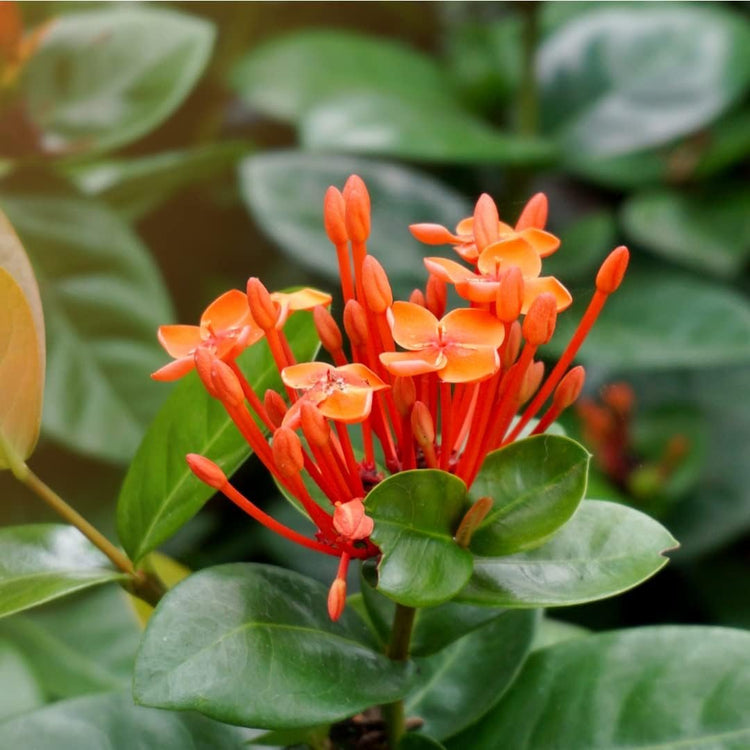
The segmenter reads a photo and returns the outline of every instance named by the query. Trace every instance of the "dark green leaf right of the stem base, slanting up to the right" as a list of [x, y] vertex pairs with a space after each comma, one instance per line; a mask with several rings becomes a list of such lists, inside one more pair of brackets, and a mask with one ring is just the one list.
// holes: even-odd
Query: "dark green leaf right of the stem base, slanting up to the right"
[[420, 731], [444, 740], [473, 724], [513, 682], [534, 638], [537, 613], [506, 612], [445, 650], [418, 659], [419, 682], [405, 700]]

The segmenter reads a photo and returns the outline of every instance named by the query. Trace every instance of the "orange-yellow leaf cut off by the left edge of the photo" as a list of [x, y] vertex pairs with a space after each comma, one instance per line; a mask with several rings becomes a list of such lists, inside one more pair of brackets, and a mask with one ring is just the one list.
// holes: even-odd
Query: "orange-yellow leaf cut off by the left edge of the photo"
[[17, 473], [33, 452], [42, 421], [44, 360], [23, 289], [0, 268], [0, 469]]

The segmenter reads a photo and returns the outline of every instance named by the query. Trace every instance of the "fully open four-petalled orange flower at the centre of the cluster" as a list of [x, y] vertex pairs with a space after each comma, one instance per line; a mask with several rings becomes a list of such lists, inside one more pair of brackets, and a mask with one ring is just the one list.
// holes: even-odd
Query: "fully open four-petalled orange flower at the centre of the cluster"
[[394, 341], [406, 352], [384, 352], [380, 361], [392, 375], [437, 372], [446, 383], [482, 380], [500, 366], [497, 349], [503, 325], [484, 310], [453, 310], [438, 320], [411, 302], [390, 311]]

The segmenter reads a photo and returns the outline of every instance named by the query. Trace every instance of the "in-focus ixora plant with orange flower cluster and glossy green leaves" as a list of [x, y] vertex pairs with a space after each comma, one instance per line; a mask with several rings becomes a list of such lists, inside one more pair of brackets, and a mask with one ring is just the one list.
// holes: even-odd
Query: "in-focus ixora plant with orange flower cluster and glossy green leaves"
[[[330, 188], [324, 219], [348, 343], [330, 295], [270, 293], [256, 278], [211, 303], [198, 326], [162, 326], [173, 361], [153, 377], [181, 382], [122, 488], [125, 552], [25, 464], [41, 403], [41, 314], [5, 228], [2, 257], [13, 262], [0, 274], [11, 311], [0, 329], [10, 353], [0, 382], [18, 398], [0, 422], [2, 465], [116, 569], [69, 527], [8, 529], [3, 614], [107, 581], [156, 605], [133, 694], [168, 710], [123, 709], [131, 739], [157, 717], [192, 709], [215, 720], [185, 719], [196, 747], [248, 740], [226, 724], [268, 730], [255, 743], [314, 748], [747, 746], [747, 634], [590, 635], [541, 615], [637, 585], [676, 546], [648, 516], [584, 499], [589, 454], [555, 422], [581, 392], [573, 359], [622, 282], [628, 251], [604, 261], [575, 334], [546, 372], [538, 357], [571, 303], [541, 275], [560, 244], [544, 229], [546, 214], [536, 195], [511, 226], [483, 195], [455, 233], [413, 225], [418, 239], [451, 245], [464, 263], [426, 258], [424, 291], [394, 302], [367, 254], [364, 183], [352, 176], [342, 192]], [[460, 306], [447, 311], [449, 298]], [[320, 344], [328, 361], [311, 361]], [[309, 533], [230, 483], [251, 451]], [[149, 555], [216, 490], [287, 540], [337, 558], [330, 586], [235, 563], [165, 593]], [[347, 596], [352, 561], [360, 591]], [[14, 726], [0, 725], [0, 739], [21, 736]]]

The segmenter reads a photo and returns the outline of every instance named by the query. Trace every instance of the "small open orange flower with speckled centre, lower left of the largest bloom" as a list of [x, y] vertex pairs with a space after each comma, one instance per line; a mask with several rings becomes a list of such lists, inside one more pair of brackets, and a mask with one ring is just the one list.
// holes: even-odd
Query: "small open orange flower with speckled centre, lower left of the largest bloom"
[[305, 362], [285, 367], [281, 378], [290, 388], [304, 391], [284, 418], [284, 425], [296, 427], [304, 400], [311, 401], [323, 416], [354, 424], [370, 416], [372, 394], [388, 388], [372, 370], [358, 362], [341, 367], [325, 362]]

